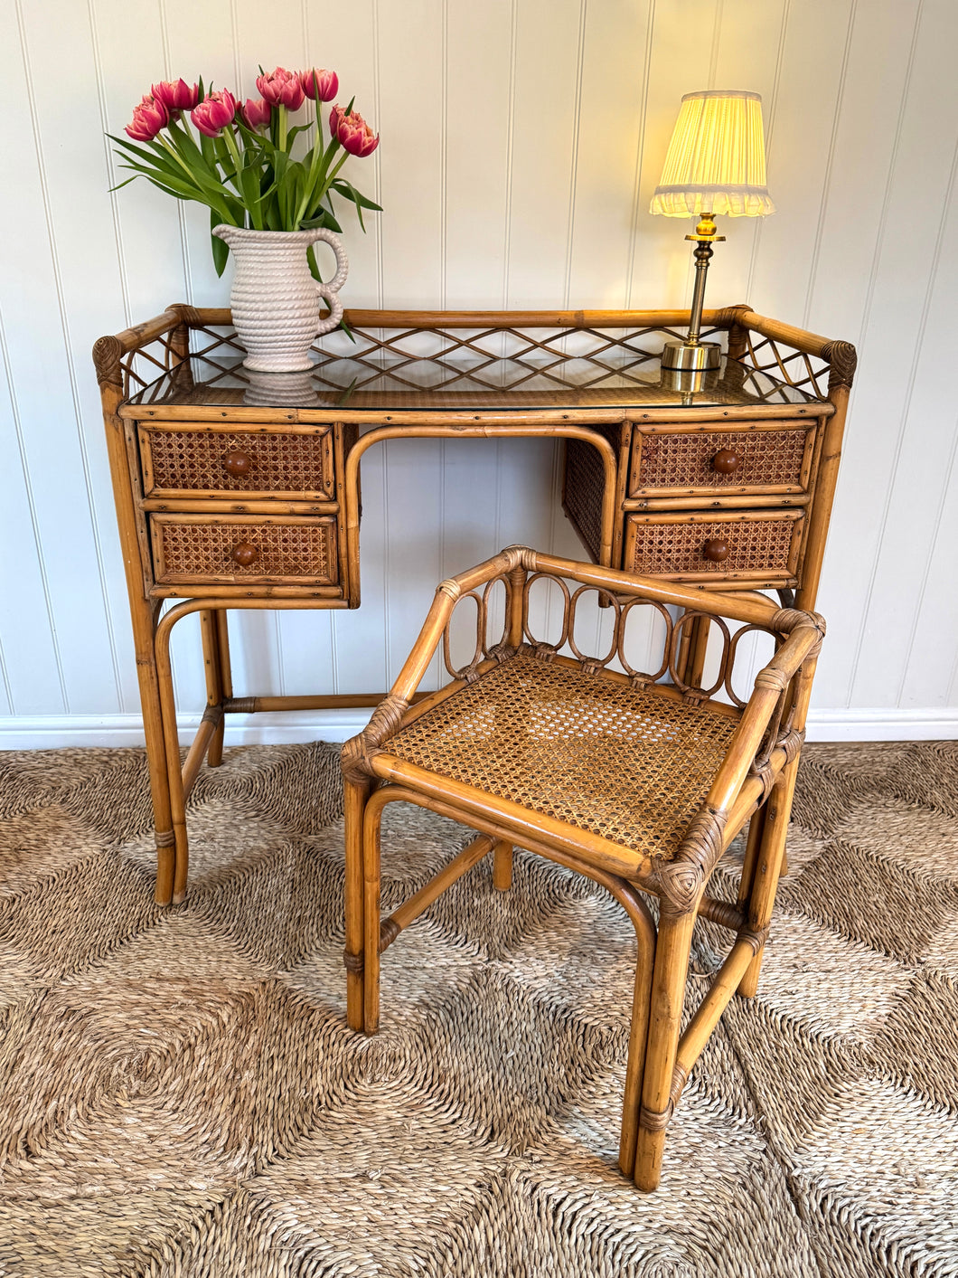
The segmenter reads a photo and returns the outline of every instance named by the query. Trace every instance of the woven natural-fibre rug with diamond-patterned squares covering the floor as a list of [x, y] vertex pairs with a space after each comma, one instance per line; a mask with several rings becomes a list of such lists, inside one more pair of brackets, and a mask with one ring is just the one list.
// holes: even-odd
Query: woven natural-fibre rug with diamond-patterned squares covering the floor
[[[641, 1195], [634, 938], [599, 888], [478, 866], [384, 956], [367, 1040], [333, 748], [206, 771], [170, 910], [142, 753], [0, 757], [0, 1273], [957, 1274], [957, 809], [954, 744], [809, 749], [760, 994]], [[386, 904], [466, 841], [387, 809]]]

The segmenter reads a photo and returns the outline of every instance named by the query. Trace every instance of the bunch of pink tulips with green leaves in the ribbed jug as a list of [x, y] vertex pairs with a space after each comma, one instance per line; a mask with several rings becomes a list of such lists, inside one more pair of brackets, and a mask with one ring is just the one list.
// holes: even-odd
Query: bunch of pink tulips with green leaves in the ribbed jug
[[[262, 68], [261, 68], [262, 70]], [[134, 170], [125, 187], [144, 176], [176, 199], [193, 199], [211, 211], [211, 226], [247, 226], [264, 231], [342, 227], [332, 206], [333, 193], [363, 210], [381, 211], [340, 170], [349, 156], [368, 156], [379, 144], [353, 102], [330, 112], [330, 139], [323, 134], [321, 104], [338, 92], [335, 72], [287, 72], [282, 66], [257, 78], [259, 98], [240, 102], [227, 89], [204, 91], [203, 82], [162, 81], [153, 84], [133, 112], [126, 134], [110, 139], [121, 150], [123, 167]], [[310, 124], [291, 124], [291, 112], [307, 98], [316, 102], [312, 144], [294, 158], [294, 146]], [[197, 137], [186, 124], [186, 114]], [[305, 139], [304, 139], [305, 141]], [[114, 188], [119, 189], [119, 187]], [[224, 240], [211, 236], [216, 271], [222, 275], [229, 256]], [[319, 279], [316, 258], [310, 268]]]

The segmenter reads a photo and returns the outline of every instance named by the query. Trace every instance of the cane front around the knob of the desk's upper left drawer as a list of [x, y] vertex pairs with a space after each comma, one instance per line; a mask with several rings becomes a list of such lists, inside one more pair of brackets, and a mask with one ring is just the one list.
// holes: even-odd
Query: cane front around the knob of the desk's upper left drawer
[[[141, 429], [148, 450], [153, 489], [224, 492], [336, 492], [330, 431], [316, 435], [264, 431]], [[232, 451], [252, 461], [248, 475], [231, 475], [224, 461]]]

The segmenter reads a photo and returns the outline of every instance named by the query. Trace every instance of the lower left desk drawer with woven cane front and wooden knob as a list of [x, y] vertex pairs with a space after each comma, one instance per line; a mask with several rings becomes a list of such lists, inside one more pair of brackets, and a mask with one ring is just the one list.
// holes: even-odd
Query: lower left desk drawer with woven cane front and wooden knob
[[161, 585], [338, 579], [335, 515], [151, 515], [149, 535]]

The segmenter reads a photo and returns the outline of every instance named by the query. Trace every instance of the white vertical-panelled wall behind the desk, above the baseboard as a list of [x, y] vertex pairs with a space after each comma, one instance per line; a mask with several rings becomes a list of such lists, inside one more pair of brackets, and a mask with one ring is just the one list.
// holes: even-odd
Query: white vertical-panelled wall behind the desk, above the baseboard
[[[685, 224], [646, 212], [682, 93], [757, 89], [779, 212], [728, 221], [713, 305], [858, 346], [820, 608], [819, 737], [958, 735], [954, 0], [0, 0], [0, 746], [139, 740], [89, 349], [217, 305], [207, 213], [116, 194], [105, 130], [151, 81], [254, 91], [332, 66], [382, 132], [347, 305], [687, 305]], [[554, 451], [391, 445], [364, 463], [363, 607], [244, 613], [238, 691], [387, 686], [443, 575], [512, 541], [576, 553]], [[184, 722], [195, 625], [175, 644]], [[234, 739], [341, 737], [354, 716]]]

